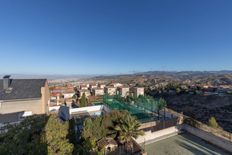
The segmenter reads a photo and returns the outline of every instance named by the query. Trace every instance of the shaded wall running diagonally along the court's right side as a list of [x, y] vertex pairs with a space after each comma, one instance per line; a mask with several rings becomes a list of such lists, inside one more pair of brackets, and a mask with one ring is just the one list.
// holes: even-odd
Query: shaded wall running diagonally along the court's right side
[[211, 144], [214, 144], [214, 145], [232, 153], [232, 142], [231, 141], [214, 136], [211, 133], [205, 132], [205, 131], [197, 129], [197, 128], [193, 128], [193, 127], [186, 125], [186, 124], [182, 125], [182, 129], [197, 136], [197, 137], [200, 137], [201, 139], [203, 139], [205, 141], [208, 141]]

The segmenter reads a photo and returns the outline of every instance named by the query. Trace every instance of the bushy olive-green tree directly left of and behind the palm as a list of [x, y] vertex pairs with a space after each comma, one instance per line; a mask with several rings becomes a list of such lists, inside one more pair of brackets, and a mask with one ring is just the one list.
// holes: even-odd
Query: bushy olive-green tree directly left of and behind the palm
[[[97, 141], [106, 137], [116, 138], [118, 134], [114, 130], [114, 127], [119, 125], [119, 120], [124, 120], [127, 117], [132, 117], [128, 111], [113, 110], [111, 113], [104, 116], [87, 118], [84, 121], [83, 131], [81, 133], [83, 150], [85, 152], [100, 151], [100, 148], [97, 146]], [[132, 126], [139, 127], [139, 122], [136, 122], [137, 124]], [[134, 127], [132, 127], [132, 129], [134, 129]], [[136, 130], [133, 131], [139, 132]]]

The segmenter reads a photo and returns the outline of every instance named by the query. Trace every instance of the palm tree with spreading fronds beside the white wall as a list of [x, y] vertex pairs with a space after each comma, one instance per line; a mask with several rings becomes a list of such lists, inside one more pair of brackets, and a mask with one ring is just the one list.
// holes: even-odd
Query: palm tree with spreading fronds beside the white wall
[[124, 119], [119, 119], [116, 125], [113, 127], [116, 137], [121, 144], [126, 146], [126, 150], [133, 148], [132, 139], [138, 138], [138, 136], [143, 135], [143, 131], [139, 130], [140, 123], [130, 114], [128, 114]]

